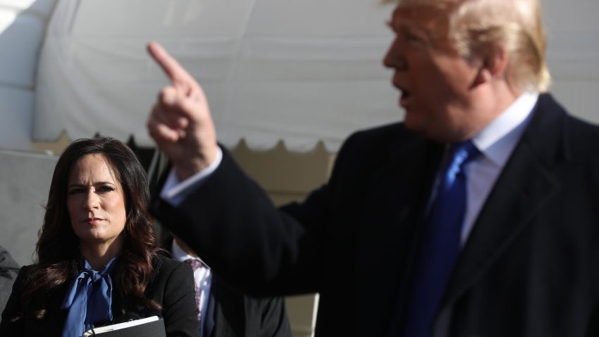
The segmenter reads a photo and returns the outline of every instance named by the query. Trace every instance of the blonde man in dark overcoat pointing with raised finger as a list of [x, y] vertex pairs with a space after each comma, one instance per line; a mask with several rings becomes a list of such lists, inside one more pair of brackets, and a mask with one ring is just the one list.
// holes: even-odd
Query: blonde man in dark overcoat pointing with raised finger
[[405, 121], [352, 135], [328, 184], [283, 209], [150, 44], [172, 81], [148, 121], [173, 161], [154, 213], [249, 293], [319, 292], [317, 336], [584, 336], [599, 128], [544, 93], [538, 0], [403, 0], [389, 25]]

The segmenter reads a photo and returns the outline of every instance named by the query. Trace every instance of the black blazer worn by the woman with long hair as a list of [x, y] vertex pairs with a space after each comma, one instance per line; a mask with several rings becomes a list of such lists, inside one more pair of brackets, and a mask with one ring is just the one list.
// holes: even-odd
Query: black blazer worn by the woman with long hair
[[[191, 266], [167, 257], [156, 256], [155, 274], [146, 290], [147, 298], [152, 298], [161, 310], [143, 307], [127, 298], [120, 298], [113, 289], [113, 323], [140, 319], [154, 315], [164, 319], [166, 336], [199, 336], [197, 307], [195, 305], [193, 271]], [[63, 283], [56, 291], [44, 298], [34, 298], [30, 307], [22, 307], [21, 294], [23, 281], [30, 272], [30, 266], [20, 269], [13, 285], [13, 292], [2, 313], [0, 336], [61, 336], [67, 310], [61, 310], [62, 302], [73, 278]], [[117, 283], [113, 283], [116, 287]], [[34, 312], [45, 308], [43, 319], [36, 319]], [[13, 321], [13, 317], [22, 317]]]

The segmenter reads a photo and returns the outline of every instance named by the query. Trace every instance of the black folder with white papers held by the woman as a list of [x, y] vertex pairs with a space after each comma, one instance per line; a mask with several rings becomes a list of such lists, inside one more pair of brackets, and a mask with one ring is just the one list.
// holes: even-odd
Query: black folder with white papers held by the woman
[[162, 317], [147, 317], [89, 329], [82, 337], [166, 337]]

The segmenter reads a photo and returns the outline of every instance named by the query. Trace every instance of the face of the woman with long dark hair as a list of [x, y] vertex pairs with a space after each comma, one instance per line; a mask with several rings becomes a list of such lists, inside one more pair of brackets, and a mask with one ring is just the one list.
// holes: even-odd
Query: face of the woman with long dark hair
[[101, 154], [88, 154], [70, 169], [67, 184], [70, 225], [81, 243], [111, 244], [127, 221], [121, 183]]

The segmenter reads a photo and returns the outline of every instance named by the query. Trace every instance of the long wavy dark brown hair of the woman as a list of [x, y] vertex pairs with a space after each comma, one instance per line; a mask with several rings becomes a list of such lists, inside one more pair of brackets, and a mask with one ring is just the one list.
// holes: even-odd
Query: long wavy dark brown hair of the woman
[[[45, 298], [79, 272], [79, 238], [70, 224], [66, 206], [68, 175], [79, 159], [89, 154], [101, 154], [121, 182], [127, 223], [123, 230], [125, 240], [121, 255], [112, 273], [115, 289], [122, 298], [140, 305], [159, 309], [144, 291], [154, 276], [152, 258], [159, 250], [154, 225], [147, 212], [149, 192], [146, 173], [135, 154], [123, 142], [110, 138], [75, 140], [61, 154], [56, 163], [48, 194], [46, 214], [36, 244], [37, 263], [25, 279], [22, 305], [27, 310], [34, 298]], [[44, 316], [44, 308], [32, 312]], [[25, 314], [23, 312], [22, 314]]]

